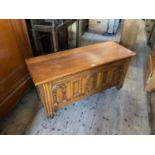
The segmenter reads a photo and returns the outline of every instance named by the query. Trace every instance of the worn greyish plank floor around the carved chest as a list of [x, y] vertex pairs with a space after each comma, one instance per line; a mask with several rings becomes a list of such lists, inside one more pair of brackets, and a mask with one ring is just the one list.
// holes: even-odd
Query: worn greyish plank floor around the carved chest
[[33, 88], [23, 100], [35, 105], [34, 115], [27, 123], [20, 122], [27, 116], [21, 114], [18, 107], [21, 109], [27, 103], [19, 104], [12, 112], [15, 117], [9, 114], [8, 119], [0, 123], [1, 134], [150, 134], [149, 101], [143, 89], [144, 64], [149, 51], [142, 23], [135, 43], [137, 56], [132, 59], [122, 89], [111, 88], [88, 97], [58, 110], [54, 118], [48, 119], [41, 103], [36, 103], [39, 100]]

